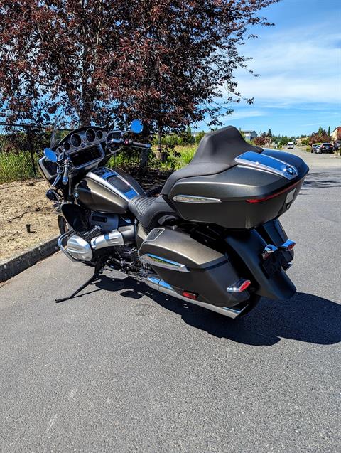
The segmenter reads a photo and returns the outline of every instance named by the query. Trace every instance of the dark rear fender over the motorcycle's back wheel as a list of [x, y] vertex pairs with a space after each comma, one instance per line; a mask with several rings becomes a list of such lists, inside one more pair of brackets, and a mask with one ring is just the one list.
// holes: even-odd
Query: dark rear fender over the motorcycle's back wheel
[[270, 299], [289, 299], [296, 293], [296, 287], [283, 269], [271, 277], [264, 271], [261, 253], [267, 243], [256, 230], [230, 234], [225, 241], [259, 285], [256, 294]]

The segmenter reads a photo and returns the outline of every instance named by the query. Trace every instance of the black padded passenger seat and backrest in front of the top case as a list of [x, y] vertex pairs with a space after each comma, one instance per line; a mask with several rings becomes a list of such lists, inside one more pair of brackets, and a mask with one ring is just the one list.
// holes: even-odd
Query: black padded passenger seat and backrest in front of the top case
[[236, 165], [234, 159], [246, 151], [260, 153], [263, 149], [247, 143], [236, 127], [227, 126], [206, 134], [205, 137], [202, 137], [193, 159], [188, 165], [174, 171], [169, 176], [161, 194], [168, 196], [179, 179], [207, 176], [226, 171], [231, 166]]

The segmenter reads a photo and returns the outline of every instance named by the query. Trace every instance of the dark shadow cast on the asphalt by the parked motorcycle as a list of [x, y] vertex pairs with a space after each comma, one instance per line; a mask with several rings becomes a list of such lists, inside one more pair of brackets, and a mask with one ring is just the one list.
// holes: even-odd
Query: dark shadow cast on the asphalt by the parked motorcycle
[[281, 338], [321, 345], [341, 341], [341, 305], [313, 294], [298, 292], [285, 301], [261, 299], [249, 314], [233, 320], [158, 293], [131, 278], [112, 280], [102, 275], [94, 286], [118, 291], [129, 299], [141, 299], [146, 295], [161, 307], [180, 315], [195, 329], [238, 343], [272, 346]]

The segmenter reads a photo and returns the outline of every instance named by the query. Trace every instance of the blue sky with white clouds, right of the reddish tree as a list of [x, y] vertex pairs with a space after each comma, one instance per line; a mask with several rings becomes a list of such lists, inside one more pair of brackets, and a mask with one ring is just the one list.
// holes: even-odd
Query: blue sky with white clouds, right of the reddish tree
[[[275, 26], [254, 27], [259, 37], [241, 48], [259, 77], [236, 73], [239, 91], [254, 104], [235, 105], [222, 122], [287, 135], [340, 126], [341, 1], [281, 0], [262, 12]], [[207, 130], [204, 122], [197, 128]]]

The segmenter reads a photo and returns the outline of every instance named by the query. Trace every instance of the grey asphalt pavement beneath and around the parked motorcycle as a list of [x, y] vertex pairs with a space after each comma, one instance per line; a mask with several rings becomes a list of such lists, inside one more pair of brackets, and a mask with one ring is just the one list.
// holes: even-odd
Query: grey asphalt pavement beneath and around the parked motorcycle
[[1, 452], [340, 452], [341, 173], [283, 216], [298, 293], [237, 321], [60, 254], [0, 289]]

